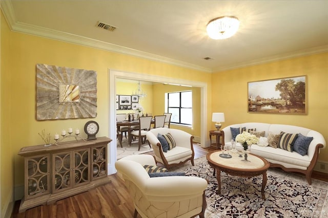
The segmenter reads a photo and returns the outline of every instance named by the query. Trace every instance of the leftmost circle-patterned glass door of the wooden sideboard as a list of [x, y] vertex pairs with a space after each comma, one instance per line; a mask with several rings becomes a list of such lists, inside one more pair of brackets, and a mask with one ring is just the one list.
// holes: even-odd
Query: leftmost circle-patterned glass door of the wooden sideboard
[[25, 199], [50, 193], [50, 155], [25, 158], [26, 189]]

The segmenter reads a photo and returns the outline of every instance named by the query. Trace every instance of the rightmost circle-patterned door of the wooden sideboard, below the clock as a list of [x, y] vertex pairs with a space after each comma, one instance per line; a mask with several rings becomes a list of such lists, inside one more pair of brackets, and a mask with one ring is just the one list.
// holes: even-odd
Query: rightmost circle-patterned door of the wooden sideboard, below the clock
[[107, 176], [107, 146], [92, 147], [92, 180]]

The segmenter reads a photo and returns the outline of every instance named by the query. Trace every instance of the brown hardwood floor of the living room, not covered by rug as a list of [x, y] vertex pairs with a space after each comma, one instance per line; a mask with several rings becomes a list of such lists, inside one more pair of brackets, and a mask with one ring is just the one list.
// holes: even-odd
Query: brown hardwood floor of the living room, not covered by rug
[[[208, 148], [194, 144], [195, 159], [205, 156]], [[149, 154], [152, 154], [150, 152]], [[92, 190], [62, 199], [51, 205], [43, 205], [18, 213], [20, 201], [15, 202], [13, 218], [124, 218], [133, 217], [134, 205], [129, 191], [116, 175], [109, 176], [110, 183]], [[314, 171], [312, 178], [328, 182], [325, 173]], [[138, 218], [140, 215], [137, 216]]]

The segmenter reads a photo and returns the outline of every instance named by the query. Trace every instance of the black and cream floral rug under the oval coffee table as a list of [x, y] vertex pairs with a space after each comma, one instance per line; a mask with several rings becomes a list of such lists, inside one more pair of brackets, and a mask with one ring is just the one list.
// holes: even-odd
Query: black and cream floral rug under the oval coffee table
[[221, 172], [221, 194], [216, 194], [216, 177], [206, 157], [171, 171], [209, 180], [205, 217], [328, 217], [327, 182], [312, 179], [309, 185], [302, 175], [270, 168], [263, 200], [262, 176], [248, 179]]

